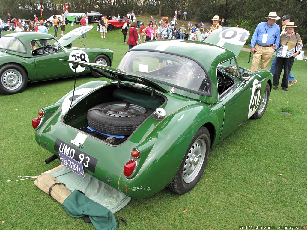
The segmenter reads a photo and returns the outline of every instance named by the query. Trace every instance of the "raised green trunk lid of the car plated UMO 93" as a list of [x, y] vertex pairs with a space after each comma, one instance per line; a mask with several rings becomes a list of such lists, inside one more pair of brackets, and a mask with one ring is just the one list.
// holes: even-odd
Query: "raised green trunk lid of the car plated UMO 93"
[[135, 82], [135, 83], [139, 83], [145, 86], [149, 86], [155, 90], [159, 90], [161, 92], [166, 93], [167, 90], [165, 90], [162, 86], [156, 84], [155, 82], [146, 79], [142, 76], [136, 75], [136, 74], [128, 74], [124, 71], [121, 71], [119, 69], [113, 68], [113, 67], [109, 67], [109, 66], [105, 66], [105, 65], [99, 65], [99, 64], [95, 64], [95, 63], [84, 63], [84, 62], [79, 62], [79, 61], [71, 61], [71, 60], [64, 60], [64, 59], [60, 59], [64, 62], [69, 62], [69, 63], [73, 63], [73, 64], [77, 64], [77, 65], [82, 65], [82, 66], [87, 66], [90, 68], [95, 69], [95, 71], [101, 73], [104, 77], [111, 79], [111, 80], [115, 80], [115, 81], [126, 81], [126, 82]]

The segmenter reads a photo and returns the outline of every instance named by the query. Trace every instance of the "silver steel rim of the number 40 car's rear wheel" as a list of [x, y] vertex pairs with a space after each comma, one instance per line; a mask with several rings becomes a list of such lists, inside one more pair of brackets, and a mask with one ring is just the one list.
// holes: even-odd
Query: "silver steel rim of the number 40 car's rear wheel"
[[197, 177], [204, 163], [205, 155], [206, 142], [200, 138], [192, 144], [185, 158], [183, 167], [183, 180], [185, 183], [191, 183]]

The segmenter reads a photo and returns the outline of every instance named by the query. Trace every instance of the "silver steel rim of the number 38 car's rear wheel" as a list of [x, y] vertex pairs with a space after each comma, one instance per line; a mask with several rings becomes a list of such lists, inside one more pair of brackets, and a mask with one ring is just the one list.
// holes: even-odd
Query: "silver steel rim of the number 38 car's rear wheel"
[[21, 86], [22, 75], [14, 69], [6, 70], [1, 76], [1, 83], [7, 90], [15, 90]]

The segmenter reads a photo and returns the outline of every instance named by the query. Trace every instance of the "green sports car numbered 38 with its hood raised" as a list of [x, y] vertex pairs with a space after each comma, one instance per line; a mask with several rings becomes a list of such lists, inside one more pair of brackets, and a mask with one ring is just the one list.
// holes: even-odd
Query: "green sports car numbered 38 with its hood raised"
[[[76, 28], [56, 40], [48, 33], [10, 33], [0, 38], [0, 93], [22, 92], [28, 81], [84, 75], [89, 68], [59, 61], [59, 59], [93, 62], [111, 66], [113, 51], [108, 49], [72, 48], [71, 43], [93, 26]], [[95, 77], [99, 77], [93, 72]]]

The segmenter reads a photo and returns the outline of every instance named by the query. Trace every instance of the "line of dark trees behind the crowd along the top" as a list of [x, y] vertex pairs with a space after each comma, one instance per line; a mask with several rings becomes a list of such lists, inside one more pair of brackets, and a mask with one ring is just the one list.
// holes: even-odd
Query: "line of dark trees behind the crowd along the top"
[[[264, 17], [269, 12], [277, 12], [282, 17], [290, 15], [290, 21], [298, 26], [295, 30], [302, 37], [303, 44], [307, 42], [307, 0], [0, 0], [0, 17], [7, 20], [7, 13], [21, 19], [32, 19], [33, 14], [41, 15], [43, 19], [52, 14], [64, 11], [64, 4], [68, 3], [70, 13], [99, 11], [106, 15], [125, 15], [134, 10], [139, 13], [150, 13], [152, 16], [173, 17], [176, 9], [187, 11], [187, 19], [194, 21], [212, 22], [210, 18], [219, 15], [225, 18], [225, 25], [247, 29], [251, 34], [259, 22], [265, 21]], [[277, 24], [281, 26], [280, 20]], [[225, 26], [224, 25], [224, 26]], [[250, 42], [251, 36], [247, 43]]]

